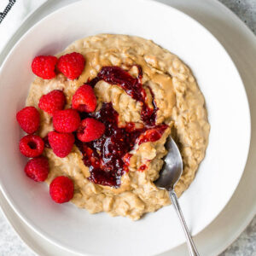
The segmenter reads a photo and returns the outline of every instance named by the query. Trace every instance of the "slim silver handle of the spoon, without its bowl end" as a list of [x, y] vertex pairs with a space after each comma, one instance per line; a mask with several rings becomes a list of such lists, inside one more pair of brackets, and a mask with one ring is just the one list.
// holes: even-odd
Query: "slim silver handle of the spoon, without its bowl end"
[[189, 247], [190, 255], [191, 256], [200, 256], [199, 253], [196, 250], [195, 243], [192, 240], [192, 237], [190, 236], [189, 229], [188, 229], [187, 224], [185, 222], [185, 219], [183, 217], [183, 212], [181, 211], [181, 208], [180, 208], [179, 203], [177, 201], [177, 195], [176, 195], [176, 193], [174, 192], [173, 189], [171, 191], [169, 191], [169, 195], [170, 195], [170, 198], [171, 198], [171, 201], [172, 201], [172, 205], [173, 205], [173, 207], [175, 208], [175, 210], [177, 212], [177, 216], [178, 216], [178, 218], [180, 219], [180, 221], [183, 225], [183, 230], [184, 230], [185, 235], [186, 235], [187, 245]]

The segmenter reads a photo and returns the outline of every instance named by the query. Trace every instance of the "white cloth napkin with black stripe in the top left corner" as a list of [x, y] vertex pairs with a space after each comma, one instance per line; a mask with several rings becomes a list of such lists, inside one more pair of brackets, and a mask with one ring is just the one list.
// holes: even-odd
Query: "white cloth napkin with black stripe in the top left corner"
[[[33, 10], [37, 9], [41, 4], [47, 0], [16, 0], [9, 13], [5, 16], [0, 24], [0, 52], [5, 44], [8, 43], [9, 38], [22, 24], [26, 16], [31, 14]], [[0, 12], [6, 8], [10, 1], [0, 0]], [[14, 2], [14, 0], [12, 1]]]

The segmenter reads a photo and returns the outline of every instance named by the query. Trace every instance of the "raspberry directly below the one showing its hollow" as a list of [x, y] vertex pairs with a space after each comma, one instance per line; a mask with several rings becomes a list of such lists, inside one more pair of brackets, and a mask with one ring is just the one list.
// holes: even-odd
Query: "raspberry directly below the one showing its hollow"
[[42, 182], [48, 177], [49, 163], [46, 157], [39, 156], [29, 160], [25, 166], [26, 176], [36, 182]]

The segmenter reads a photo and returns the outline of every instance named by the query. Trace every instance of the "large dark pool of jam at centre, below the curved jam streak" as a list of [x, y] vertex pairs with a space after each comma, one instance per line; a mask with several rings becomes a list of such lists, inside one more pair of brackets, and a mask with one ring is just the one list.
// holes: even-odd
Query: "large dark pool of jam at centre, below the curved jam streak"
[[104, 103], [98, 112], [88, 116], [106, 126], [104, 135], [99, 139], [90, 143], [76, 142], [84, 155], [85, 166], [89, 166], [89, 179], [97, 184], [119, 187], [122, 175], [128, 171], [123, 157], [131, 151], [137, 137], [145, 130], [126, 131], [119, 128], [119, 114], [111, 103]]

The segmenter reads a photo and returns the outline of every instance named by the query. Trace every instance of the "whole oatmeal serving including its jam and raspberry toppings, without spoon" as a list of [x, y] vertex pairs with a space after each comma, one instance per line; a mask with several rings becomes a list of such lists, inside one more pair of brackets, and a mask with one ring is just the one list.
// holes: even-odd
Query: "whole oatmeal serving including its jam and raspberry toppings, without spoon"
[[[192, 183], [210, 125], [204, 96], [177, 55], [144, 38], [101, 34], [55, 56], [36, 57], [32, 71], [38, 77], [26, 99], [29, 108], [17, 119], [44, 144], [44, 160], [32, 162], [41, 171], [30, 163], [26, 173], [53, 183], [53, 200], [134, 220], [169, 205], [168, 193], [154, 180], [170, 135], [183, 157], [177, 195]], [[46, 160], [49, 166], [42, 168]]]

